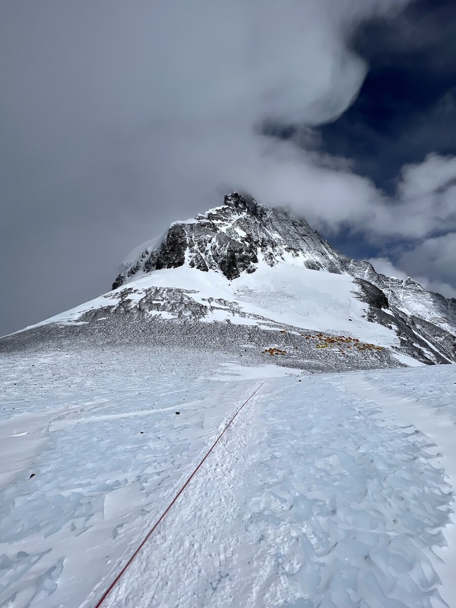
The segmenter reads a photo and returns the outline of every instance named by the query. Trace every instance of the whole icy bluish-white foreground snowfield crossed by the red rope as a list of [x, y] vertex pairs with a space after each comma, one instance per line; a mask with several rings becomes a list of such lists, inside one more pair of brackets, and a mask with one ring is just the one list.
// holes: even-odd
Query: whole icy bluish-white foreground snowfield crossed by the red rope
[[0, 606], [95, 606], [264, 378], [104, 605], [455, 605], [455, 366], [306, 375], [154, 347], [1, 363]]

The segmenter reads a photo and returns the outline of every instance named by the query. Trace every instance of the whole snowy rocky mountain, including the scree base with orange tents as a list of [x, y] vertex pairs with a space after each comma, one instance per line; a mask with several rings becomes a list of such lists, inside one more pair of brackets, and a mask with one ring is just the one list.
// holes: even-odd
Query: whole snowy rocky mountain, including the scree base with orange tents
[[4, 350], [148, 345], [309, 371], [456, 362], [456, 300], [348, 258], [304, 219], [238, 193], [136, 249], [112, 291]]

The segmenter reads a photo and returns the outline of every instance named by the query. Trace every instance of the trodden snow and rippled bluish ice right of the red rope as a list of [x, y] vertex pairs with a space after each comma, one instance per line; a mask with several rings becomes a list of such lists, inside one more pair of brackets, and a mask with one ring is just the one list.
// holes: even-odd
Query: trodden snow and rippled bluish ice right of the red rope
[[265, 385], [106, 604], [444, 606], [433, 444], [339, 381]]

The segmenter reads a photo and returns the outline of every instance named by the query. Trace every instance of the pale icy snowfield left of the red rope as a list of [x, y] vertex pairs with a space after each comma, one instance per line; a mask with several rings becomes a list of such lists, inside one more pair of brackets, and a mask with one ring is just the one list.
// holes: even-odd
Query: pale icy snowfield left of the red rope
[[[30, 450], [26, 460], [17, 449], [1, 454], [13, 478], [0, 487], [0, 606], [80, 606], [131, 554], [233, 404], [250, 394], [248, 380], [207, 380], [216, 355], [167, 354], [3, 361], [11, 386], [0, 446], [22, 446], [25, 430]], [[84, 370], [101, 362], [86, 383]]]

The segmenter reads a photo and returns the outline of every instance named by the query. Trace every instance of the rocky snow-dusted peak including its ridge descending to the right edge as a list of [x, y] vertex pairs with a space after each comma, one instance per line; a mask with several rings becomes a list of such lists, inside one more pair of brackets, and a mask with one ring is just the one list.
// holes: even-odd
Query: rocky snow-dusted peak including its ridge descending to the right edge
[[443, 347], [444, 356], [454, 359], [454, 300], [429, 292], [410, 278], [404, 281], [378, 274], [367, 261], [353, 260], [333, 249], [305, 219], [263, 207], [252, 196], [237, 192], [197, 218], [174, 222], [164, 235], [136, 249], [112, 288], [164, 269], [215, 271], [232, 281], [277, 264], [353, 277], [361, 298], [373, 311], [371, 320], [390, 326], [390, 315], [395, 315], [401, 336], [409, 332], [410, 323], [417, 323], [426, 339], [433, 344], [437, 340], [437, 350]]

